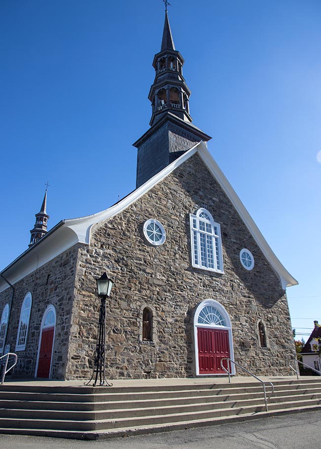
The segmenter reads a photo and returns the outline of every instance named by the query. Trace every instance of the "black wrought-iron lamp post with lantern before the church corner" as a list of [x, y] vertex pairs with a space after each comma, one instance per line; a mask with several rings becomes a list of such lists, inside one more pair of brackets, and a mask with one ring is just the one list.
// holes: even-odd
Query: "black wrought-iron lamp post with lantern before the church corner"
[[108, 278], [106, 272], [96, 279], [98, 298], [100, 298], [99, 308], [99, 321], [98, 321], [98, 335], [96, 343], [96, 352], [94, 359], [94, 369], [89, 382], [85, 385], [89, 385], [91, 380], [95, 377], [93, 386], [97, 384], [99, 376], [99, 385], [112, 386], [112, 383], [108, 383], [105, 377], [105, 323], [106, 323], [106, 298], [110, 297], [110, 292], [113, 287], [113, 281]]

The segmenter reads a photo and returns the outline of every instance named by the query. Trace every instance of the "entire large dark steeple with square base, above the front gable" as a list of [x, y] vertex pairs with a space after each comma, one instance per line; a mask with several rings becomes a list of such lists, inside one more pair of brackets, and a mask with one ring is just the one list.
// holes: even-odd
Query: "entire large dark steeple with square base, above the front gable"
[[161, 51], [153, 60], [155, 79], [148, 98], [152, 104], [151, 128], [133, 146], [137, 148], [136, 188], [163, 168], [210, 136], [192, 124], [189, 98], [191, 91], [183, 77], [184, 59], [175, 49], [167, 4]]

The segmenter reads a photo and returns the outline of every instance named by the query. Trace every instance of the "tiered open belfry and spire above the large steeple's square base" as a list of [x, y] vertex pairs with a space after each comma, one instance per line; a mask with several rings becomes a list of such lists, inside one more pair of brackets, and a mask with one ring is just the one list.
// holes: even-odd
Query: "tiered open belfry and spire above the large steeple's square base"
[[191, 91], [183, 77], [183, 64], [182, 55], [175, 50], [166, 10], [161, 51], [155, 55], [153, 61], [155, 80], [148, 95], [152, 103], [151, 126], [168, 111], [187, 122], [192, 121], [189, 109]]

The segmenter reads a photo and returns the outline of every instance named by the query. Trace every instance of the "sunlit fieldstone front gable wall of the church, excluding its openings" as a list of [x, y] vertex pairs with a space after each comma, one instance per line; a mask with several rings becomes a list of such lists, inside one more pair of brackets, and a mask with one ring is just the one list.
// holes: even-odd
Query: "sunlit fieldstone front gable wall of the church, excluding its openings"
[[[224, 274], [191, 265], [189, 214], [200, 207], [221, 225]], [[149, 218], [166, 230], [161, 246], [144, 238]], [[251, 271], [241, 266], [242, 248], [254, 256]], [[90, 247], [79, 248], [66, 372], [70, 379], [90, 375], [99, 306], [95, 278], [104, 271], [115, 281], [107, 301], [109, 378], [195, 375], [193, 318], [203, 299], [215, 299], [228, 311], [237, 362], [255, 374], [290, 374], [295, 349], [280, 280], [198, 154], [126, 210], [93, 227]], [[153, 311], [151, 342], [142, 340], [146, 306]], [[260, 320], [266, 327], [266, 348], [259, 344]], [[249, 348], [244, 340], [250, 341]]]

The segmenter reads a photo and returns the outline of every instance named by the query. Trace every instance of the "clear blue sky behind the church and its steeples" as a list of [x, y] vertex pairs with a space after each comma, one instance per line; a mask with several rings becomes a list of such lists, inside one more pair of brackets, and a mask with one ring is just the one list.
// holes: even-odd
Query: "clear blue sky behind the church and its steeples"
[[[299, 281], [301, 337], [321, 322], [321, 2], [170, 3], [193, 123]], [[163, 20], [161, 0], [0, 2], [1, 268], [28, 247], [47, 181], [49, 227], [135, 188]]]

